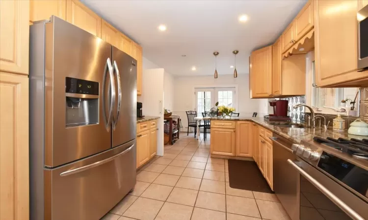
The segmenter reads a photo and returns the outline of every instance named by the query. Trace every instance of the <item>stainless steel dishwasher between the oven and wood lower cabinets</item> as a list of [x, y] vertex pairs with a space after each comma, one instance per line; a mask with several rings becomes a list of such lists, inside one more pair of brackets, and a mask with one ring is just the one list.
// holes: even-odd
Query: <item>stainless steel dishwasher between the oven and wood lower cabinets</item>
[[291, 150], [292, 142], [276, 133], [270, 139], [273, 146], [273, 190], [291, 220], [299, 220], [300, 175], [288, 163], [288, 159], [297, 160]]

